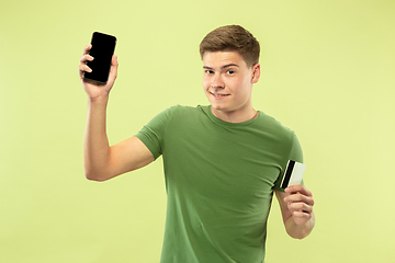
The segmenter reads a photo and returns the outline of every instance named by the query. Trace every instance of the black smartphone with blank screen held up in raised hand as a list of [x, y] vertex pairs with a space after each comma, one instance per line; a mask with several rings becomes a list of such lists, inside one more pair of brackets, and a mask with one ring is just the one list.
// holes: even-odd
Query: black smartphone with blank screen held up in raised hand
[[83, 72], [86, 80], [105, 84], [109, 80], [111, 59], [114, 54], [116, 37], [103, 33], [94, 32], [91, 39], [92, 48], [89, 50], [94, 59], [87, 61], [92, 72]]

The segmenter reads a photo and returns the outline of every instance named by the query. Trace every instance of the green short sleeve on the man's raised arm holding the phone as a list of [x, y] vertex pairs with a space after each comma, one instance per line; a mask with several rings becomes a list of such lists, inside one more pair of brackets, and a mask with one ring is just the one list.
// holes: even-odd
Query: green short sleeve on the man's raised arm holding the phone
[[159, 113], [135, 135], [150, 150], [155, 159], [162, 153], [165, 133], [172, 111], [173, 107], [169, 107]]

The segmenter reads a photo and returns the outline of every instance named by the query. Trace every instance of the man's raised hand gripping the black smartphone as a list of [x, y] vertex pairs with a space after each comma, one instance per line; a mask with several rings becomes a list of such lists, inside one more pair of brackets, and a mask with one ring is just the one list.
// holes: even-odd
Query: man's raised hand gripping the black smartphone
[[89, 55], [89, 50], [92, 48], [92, 45], [89, 44], [88, 46], [86, 46], [83, 48], [83, 56], [80, 59], [80, 65], [79, 65], [79, 77], [82, 81], [82, 87], [84, 89], [84, 91], [88, 94], [88, 98], [90, 100], [97, 100], [101, 96], [106, 96], [110, 93], [110, 90], [112, 89], [115, 79], [116, 79], [116, 75], [117, 75], [117, 56], [113, 55], [112, 60], [111, 60], [111, 69], [110, 69], [110, 76], [109, 76], [109, 80], [105, 84], [100, 84], [97, 82], [92, 82], [92, 81], [88, 81], [86, 79], [83, 79], [83, 71], [87, 72], [91, 72], [92, 70], [87, 66], [87, 61], [92, 61], [94, 58], [92, 56]]

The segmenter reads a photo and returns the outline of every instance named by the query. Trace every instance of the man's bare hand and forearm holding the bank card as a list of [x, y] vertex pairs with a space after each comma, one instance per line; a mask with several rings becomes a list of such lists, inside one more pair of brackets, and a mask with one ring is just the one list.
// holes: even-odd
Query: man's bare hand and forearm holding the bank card
[[289, 186], [285, 193], [274, 192], [287, 235], [294, 239], [307, 237], [315, 226], [312, 192], [301, 184]]

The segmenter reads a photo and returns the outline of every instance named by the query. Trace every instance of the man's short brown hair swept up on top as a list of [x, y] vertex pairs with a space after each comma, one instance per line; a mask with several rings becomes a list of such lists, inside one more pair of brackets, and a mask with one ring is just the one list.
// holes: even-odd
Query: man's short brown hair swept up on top
[[200, 44], [203, 59], [205, 52], [238, 52], [248, 67], [259, 61], [259, 42], [240, 25], [225, 25], [210, 32]]

